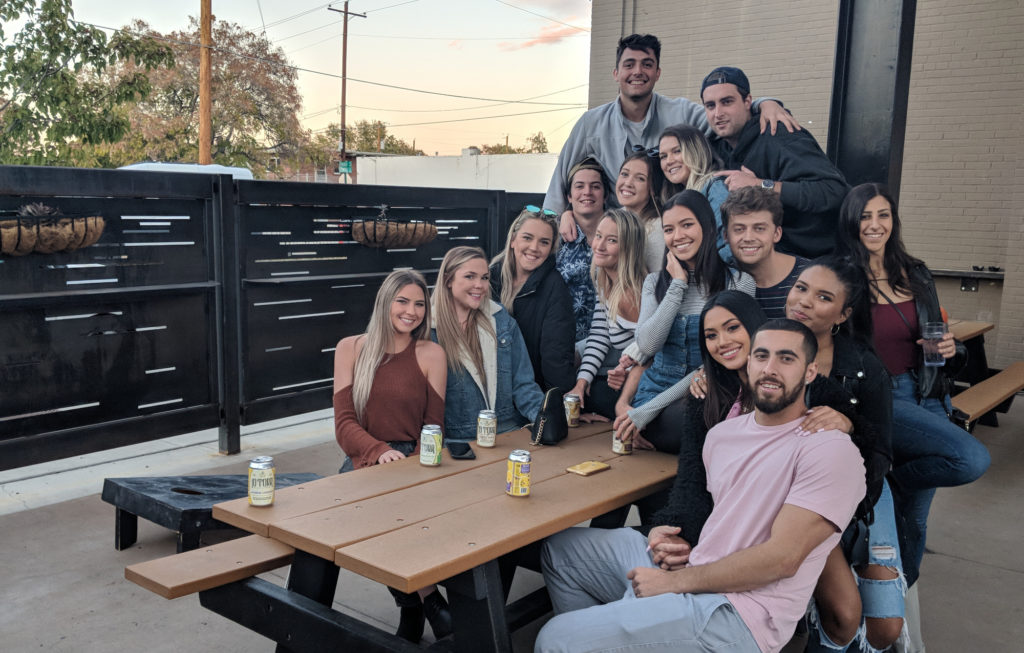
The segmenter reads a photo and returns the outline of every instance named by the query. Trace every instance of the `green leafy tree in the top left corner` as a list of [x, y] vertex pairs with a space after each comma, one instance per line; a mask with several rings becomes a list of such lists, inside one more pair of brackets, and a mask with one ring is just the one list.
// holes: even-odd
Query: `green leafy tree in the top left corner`
[[[74, 143], [120, 140], [126, 103], [151, 91], [146, 72], [171, 62], [170, 49], [124, 33], [75, 23], [71, 0], [0, 2], [0, 163], [69, 165]], [[3, 26], [22, 20], [13, 36]], [[99, 83], [110, 68], [131, 74]]]

